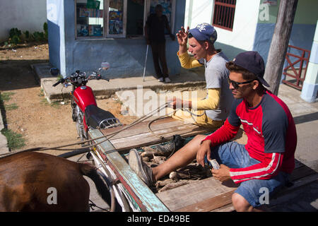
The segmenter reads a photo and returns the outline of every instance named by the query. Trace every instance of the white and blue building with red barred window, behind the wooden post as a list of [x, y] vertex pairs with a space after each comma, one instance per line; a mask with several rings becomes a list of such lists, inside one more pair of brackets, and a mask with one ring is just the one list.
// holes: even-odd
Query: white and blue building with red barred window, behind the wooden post
[[[218, 32], [216, 47], [223, 49], [229, 59], [233, 59], [240, 52], [257, 51], [266, 61], [279, 4], [280, 0], [187, 0], [184, 25], [194, 28], [199, 23], [213, 24]], [[302, 82], [301, 97], [308, 102], [317, 101], [318, 57], [317, 40], [314, 40], [317, 8], [318, 1], [298, 0], [289, 40], [292, 46], [312, 49], [307, 75]], [[300, 54], [300, 50], [293, 48], [288, 48], [288, 52]], [[300, 68], [299, 63], [295, 64], [295, 68], [297, 67]]]

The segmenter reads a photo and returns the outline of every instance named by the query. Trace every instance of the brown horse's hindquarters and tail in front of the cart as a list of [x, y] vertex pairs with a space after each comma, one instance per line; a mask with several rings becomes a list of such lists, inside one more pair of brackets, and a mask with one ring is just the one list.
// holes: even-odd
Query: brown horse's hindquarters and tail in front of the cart
[[121, 210], [93, 165], [29, 152], [0, 159], [0, 211], [88, 211], [90, 187], [83, 175], [93, 180], [104, 201]]

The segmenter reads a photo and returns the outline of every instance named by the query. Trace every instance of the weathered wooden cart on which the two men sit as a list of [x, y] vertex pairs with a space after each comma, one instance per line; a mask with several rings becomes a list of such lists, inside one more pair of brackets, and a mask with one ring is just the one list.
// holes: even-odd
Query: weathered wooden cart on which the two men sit
[[[122, 126], [112, 129], [94, 129], [89, 131], [90, 138], [99, 138], [122, 129]], [[170, 141], [172, 136], [179, 134], [191, 138], [197, 134], [211, 133], [208, 129], [194, 124], [172, 118], [158, 119], [151, 124], [153, 135], [148, 129], [148, 122], [141, 122], [129, 129], [121, 131], [110, 138], [95, 150], [99, 157], [100, 165], [107, 165], [112, 171], [113, 178], [121, 184], [121, 191], [130, 203], [132, 211], [232, 211], [231, 196], [237, 185], [231, 180], [220, 182], [213, 177], [201, 179], [190, 184], [179, 186], [175, 189], [154, 194], [151, 189], [129, 167], [125, 155], [131, 148], [140, 148], [146, 145], [155, 145]], [[160, 139], [159, 136], [163, 136]], [[240, 133], [242, 136], [242, 133]], [[98, 143], [105, 138], [100, 138]], [[317, 181], [317, 173], [309, 167], [296, 162], [292, 174], [293, 186], [281, 191], [280, 196], [288, 192], [298, 191], [301, 186]], [[102, 166], [100, 166], [102, 167]], [[276, 198], [279, 198], [277, 196]]]

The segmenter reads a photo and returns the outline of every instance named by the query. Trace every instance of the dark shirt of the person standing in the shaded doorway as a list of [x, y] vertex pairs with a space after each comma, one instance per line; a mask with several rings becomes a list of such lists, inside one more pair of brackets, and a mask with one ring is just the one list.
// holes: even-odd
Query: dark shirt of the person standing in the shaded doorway
[[158, 17], [155, 13], [148, 16], [148, 38], [151, 42], [165, 42], [165, 28], [168, 25], [167, 16]]

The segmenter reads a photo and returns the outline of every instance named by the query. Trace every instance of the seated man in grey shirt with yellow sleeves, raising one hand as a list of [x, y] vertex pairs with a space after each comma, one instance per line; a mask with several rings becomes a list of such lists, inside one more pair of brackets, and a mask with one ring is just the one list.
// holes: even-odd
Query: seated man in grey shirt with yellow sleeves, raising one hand
[[[225, 64], [228, 58], [220, 49], [215, 49], [217, 33], [212, 25], [201, 23], [187, 31], [182, 27], [177, 33], [179, 52], [177, 55], [181, 66], [191, 69], [199, 66], [205, 67], [207, 95], [204, 100], [172, 99], [170, 107], [189, 108], [192, 114], [178, 110], [172, 115], [175, 119], [191, 121], [200, 126], [218, 129], [230, 112], [233, 97], [228, 89], [228, 69]], [[189, 49], [187, 42], [189, 40]], [[188, 54], [191, 52], [193, 57]]]

